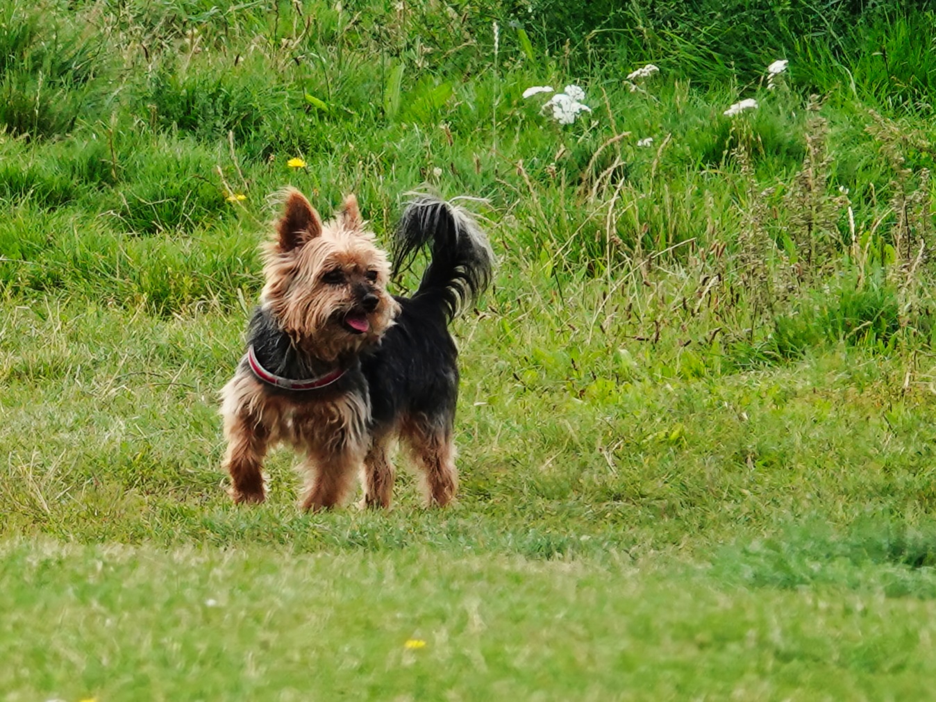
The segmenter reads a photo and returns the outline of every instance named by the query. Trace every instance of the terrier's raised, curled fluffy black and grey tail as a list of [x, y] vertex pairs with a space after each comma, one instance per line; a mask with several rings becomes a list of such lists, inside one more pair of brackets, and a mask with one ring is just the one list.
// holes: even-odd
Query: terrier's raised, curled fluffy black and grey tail
[[409, 267], [421, 249], [430, 262], [416, 294], [436, 296], [449, 319], [490, 284], [494, 255], [470, 212], [431, 195], [418, 194], [403, 211], [393, 252], [393, 270]]

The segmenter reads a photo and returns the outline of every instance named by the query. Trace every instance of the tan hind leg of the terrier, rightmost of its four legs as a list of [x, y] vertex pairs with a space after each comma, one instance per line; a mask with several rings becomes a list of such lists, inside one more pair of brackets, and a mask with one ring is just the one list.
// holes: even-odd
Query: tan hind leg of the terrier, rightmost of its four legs
[[437, 426], [424, 417], [414, 417], [404, 423], [402, 436], [409, 446], [413, 461], [422, 471], [428, 505], [444, 507], [455, 499], [459, 489], [459, 474], [455, 469], [455, 445], [452, 430], [444, 423]]

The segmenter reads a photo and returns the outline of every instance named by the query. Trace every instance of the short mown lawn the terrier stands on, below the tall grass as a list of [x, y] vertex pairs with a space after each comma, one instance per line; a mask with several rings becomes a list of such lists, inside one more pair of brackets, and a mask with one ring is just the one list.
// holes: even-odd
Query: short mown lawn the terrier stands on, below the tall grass
[[404, 475], [388, 514], [303, 515], [288, 451], [227, 501], [237, 315], [5, 310], [7, 699], [929, 694], [932, 407], [899, 363], [579, 399], [461, 323], [460, 504]]

